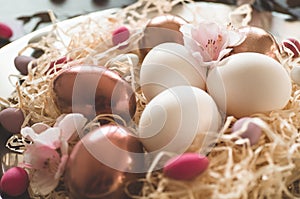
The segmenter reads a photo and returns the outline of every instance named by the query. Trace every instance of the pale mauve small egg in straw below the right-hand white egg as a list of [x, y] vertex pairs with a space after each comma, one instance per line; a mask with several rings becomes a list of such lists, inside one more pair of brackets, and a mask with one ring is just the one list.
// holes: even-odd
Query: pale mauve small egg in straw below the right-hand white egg
[[[236, 132], [238, 130], [240, 130], [243, 126], [243, 124], [247, 121], [250, 120], [250, 117], [243, 117], [240, 118], [239, 120], [237, 120], [233, 126], [232, 126], [232, 132]], [[261, 136], [262, 130], [259, 126], [257, 126], [254, 123], [249, 123], [247, 129], [245, 130], [245, 132], [243, 132], [241, 134], [242, 138], [248, 138], [250, 141], [251, 145], [254, 145], [256, 143], [258, 143], [259, 138]]]

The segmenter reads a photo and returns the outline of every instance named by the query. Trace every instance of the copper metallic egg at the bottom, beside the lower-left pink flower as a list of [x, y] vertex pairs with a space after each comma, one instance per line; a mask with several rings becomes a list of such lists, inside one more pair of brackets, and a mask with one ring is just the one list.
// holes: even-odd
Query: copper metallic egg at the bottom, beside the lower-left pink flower
[[[138, 155], [137, 155], [138, 154]], [[85, 135], [69, 157], [65, 183], [71, 199], [123, 199], [127, 182], [142, 177], [143, 146], [124, 127], [104, 125]], [[141, 187], [130, 187], [139, 193]]]

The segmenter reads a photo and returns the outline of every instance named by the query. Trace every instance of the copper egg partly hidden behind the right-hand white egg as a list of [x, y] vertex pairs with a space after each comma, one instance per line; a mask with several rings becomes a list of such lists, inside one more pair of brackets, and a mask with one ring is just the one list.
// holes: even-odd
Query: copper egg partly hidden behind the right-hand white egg
[[270, 33], [257, 27], [244, 27], [239, 31], [246, 34], [246, 39], [240, 45], [233, 47], [231, 54], [256, 52], [277, 60], [276, 52], [279, 51], [279, 46]]

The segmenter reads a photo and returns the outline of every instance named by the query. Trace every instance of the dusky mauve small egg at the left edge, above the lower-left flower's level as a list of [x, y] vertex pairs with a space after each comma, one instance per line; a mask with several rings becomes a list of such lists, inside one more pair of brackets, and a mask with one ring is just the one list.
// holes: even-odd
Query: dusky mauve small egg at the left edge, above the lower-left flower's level
[[24, 115], [21, 109], [7, 108], [0, 112], [0, 124], [11, 133], [20, 133]]

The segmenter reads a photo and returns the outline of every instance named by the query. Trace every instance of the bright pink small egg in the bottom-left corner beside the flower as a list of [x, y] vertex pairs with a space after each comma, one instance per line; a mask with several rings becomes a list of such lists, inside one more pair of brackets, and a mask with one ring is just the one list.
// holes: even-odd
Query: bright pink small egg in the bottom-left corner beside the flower
[[1, 190], [9, 196], [22, 195], [29, 186], [27, 172], [20, 167], [12, 167], [7, 170], [0, 182]]

